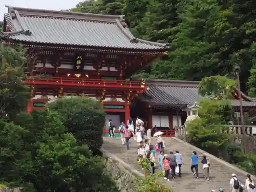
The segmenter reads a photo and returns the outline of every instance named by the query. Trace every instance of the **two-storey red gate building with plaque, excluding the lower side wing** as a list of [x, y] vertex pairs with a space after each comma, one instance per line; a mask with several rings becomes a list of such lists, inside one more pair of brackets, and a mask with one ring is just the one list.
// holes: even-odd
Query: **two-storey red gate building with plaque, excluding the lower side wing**
[[142, 80], [127, 79], [168, 49], [134, 37], [123, 16], [7, 8], [1, 38], [33, 58], [28, 112], [56, 97], [86, 95], [102, 102], [106, 119], [126, 122], [132, 99], [146, 90]]

